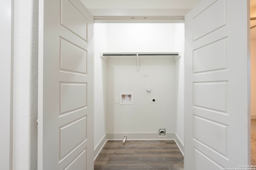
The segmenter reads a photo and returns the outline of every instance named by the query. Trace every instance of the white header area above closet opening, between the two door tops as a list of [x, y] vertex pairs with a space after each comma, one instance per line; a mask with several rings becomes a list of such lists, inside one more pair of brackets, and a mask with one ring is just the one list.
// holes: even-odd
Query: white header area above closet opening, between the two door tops
[[82, 0], [93, 16], [184, 16], [200, 0]]

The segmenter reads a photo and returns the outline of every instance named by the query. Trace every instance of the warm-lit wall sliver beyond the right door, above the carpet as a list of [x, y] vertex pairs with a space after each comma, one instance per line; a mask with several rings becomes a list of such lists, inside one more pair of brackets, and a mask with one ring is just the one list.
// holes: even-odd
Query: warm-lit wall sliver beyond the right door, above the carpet
[[256, 40], [251, 40], [251, 115], [256, 119]]

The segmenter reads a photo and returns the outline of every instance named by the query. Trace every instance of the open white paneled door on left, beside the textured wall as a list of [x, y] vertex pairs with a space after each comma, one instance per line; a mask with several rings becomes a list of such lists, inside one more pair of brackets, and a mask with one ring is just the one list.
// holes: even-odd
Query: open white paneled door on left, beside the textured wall
[[39, 10], [38, 170], [92, 170], [93, 16], [80, 0]]

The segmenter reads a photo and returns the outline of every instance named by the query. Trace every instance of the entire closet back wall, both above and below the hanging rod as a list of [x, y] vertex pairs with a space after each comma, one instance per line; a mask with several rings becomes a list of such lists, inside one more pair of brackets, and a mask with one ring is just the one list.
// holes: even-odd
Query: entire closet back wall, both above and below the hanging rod
[[[175, 49], [174, 24], [108, 25], [108, 51], [165, 52]], [[175, 131], [175, 65], [173, 59], [108, 59], [107, 132], [158, 133]], [[151, 92], [146, 92], [151, 88]], [[120, 92], [133, 92], [133, 105], [114, 103]], [[157, 103], [151, 103], [151, 97]], [[128, 137], [129, 138], [129, 137]]]

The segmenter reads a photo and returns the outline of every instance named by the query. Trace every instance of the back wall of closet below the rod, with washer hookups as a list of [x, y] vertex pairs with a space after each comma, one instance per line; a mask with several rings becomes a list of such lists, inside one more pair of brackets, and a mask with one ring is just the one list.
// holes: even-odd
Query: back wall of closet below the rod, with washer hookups
[[[173, 59], [140, 59], [140, 71], [136, 59], [108, 59], [107, 84], [108, 133], [158, 133], [159, 128], [175, 132]], [[133, 92], [134, 104], [115, 104], [120, 92]], [[157, 103], [151, 103], [152, 97]]]

